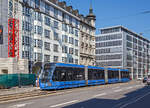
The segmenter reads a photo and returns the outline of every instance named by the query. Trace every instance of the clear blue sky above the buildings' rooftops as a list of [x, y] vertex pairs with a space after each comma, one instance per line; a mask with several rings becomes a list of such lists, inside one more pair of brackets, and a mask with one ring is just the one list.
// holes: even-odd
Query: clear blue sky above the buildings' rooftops
[[[60, 0], [63, 1], [63, 0]], [[79, 9], [79, 13], [86, 15], [90, 7], [90, 0], [64, 0], [67, 5]], [[144, 33], [150, 39], [150, 0], [92, 0], [96, 15], [96, 28], [122, 25], [128, 29]]]

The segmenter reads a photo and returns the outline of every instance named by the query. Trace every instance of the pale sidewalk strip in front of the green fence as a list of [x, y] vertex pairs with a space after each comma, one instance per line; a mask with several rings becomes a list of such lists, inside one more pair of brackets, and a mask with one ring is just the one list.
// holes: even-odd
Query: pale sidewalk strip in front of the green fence
[[33, 87], [33, 86], [22, 86], [21, 88], [13, 87], [10, 89], [0, 89], [0, 96], [1, 95], [9, 95], [9, 94], [16, 94], [16, 93], [25, 93], [25, 92], [31, 92], [40, 90], [39, 87]]

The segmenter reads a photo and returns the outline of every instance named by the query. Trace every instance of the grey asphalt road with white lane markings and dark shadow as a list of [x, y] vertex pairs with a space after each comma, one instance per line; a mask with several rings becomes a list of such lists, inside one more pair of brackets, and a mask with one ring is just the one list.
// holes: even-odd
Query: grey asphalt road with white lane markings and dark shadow
[[69, 91], [72, 92], [4, 103], [0, 108], [150, 108], [150, 86], [139, 82]]

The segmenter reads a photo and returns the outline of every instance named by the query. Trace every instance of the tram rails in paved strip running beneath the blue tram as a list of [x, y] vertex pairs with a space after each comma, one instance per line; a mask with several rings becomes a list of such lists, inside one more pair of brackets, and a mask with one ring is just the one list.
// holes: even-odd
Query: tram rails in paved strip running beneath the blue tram
[[76, 90], [88, 90], [93, 88], [101, 87], [101, 89], [110, 87], [110, 86], [117, 86], [117, 85], [126, 85], [126, 84], [132, 84], [133, 81], [128, 83], [115, 83], [115, 84], [108, 84], [108, 85], [97, 85], [97, 86], [86, 86], [81, 88], [73, 88], [73, 89], [64, 89], [64, 90], [53, 90], [53, 91], [31, 91], [31, 92], [24, 92], [24, 93], [15, 93], [15, 94], [8, 94], [8, 95], [0, 95], [0, 103], [6, 103], [6, 102], [14, 102], [19, 100], [25, 100], [25, 99], [33, 99], [37, 97], [42, 96], [50, 96], [50, 95], [59, 95], [59, 94], [65, 94], [65, 93], [71, 93]]

